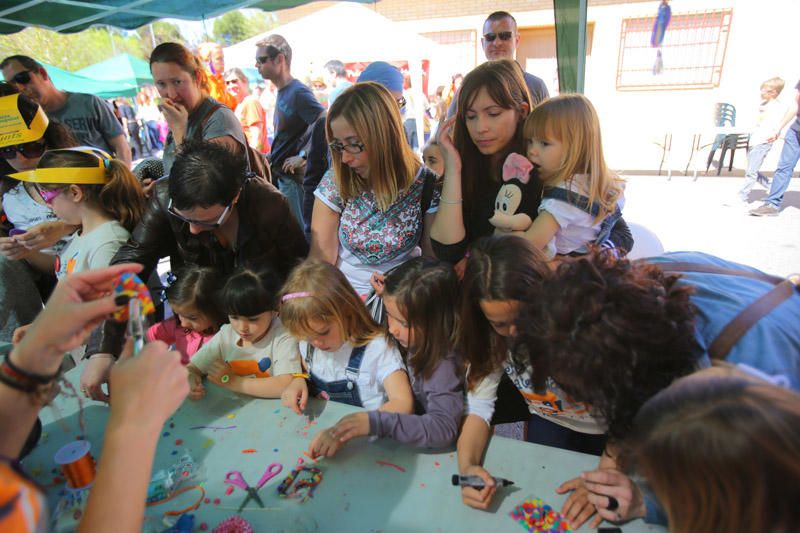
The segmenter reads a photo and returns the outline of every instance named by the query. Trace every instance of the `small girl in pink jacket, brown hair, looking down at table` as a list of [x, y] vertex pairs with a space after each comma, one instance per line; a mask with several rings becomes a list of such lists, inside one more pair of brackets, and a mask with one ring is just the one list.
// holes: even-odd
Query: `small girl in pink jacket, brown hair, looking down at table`
[[222, 277], [214, 268], [192, 266], [179, 271], [167, 287], [167, 301], [175, 314], [151, 326], [148, 341], [175, 346], [184, 360], [191, 358], [227, 321], [219, 303]]

